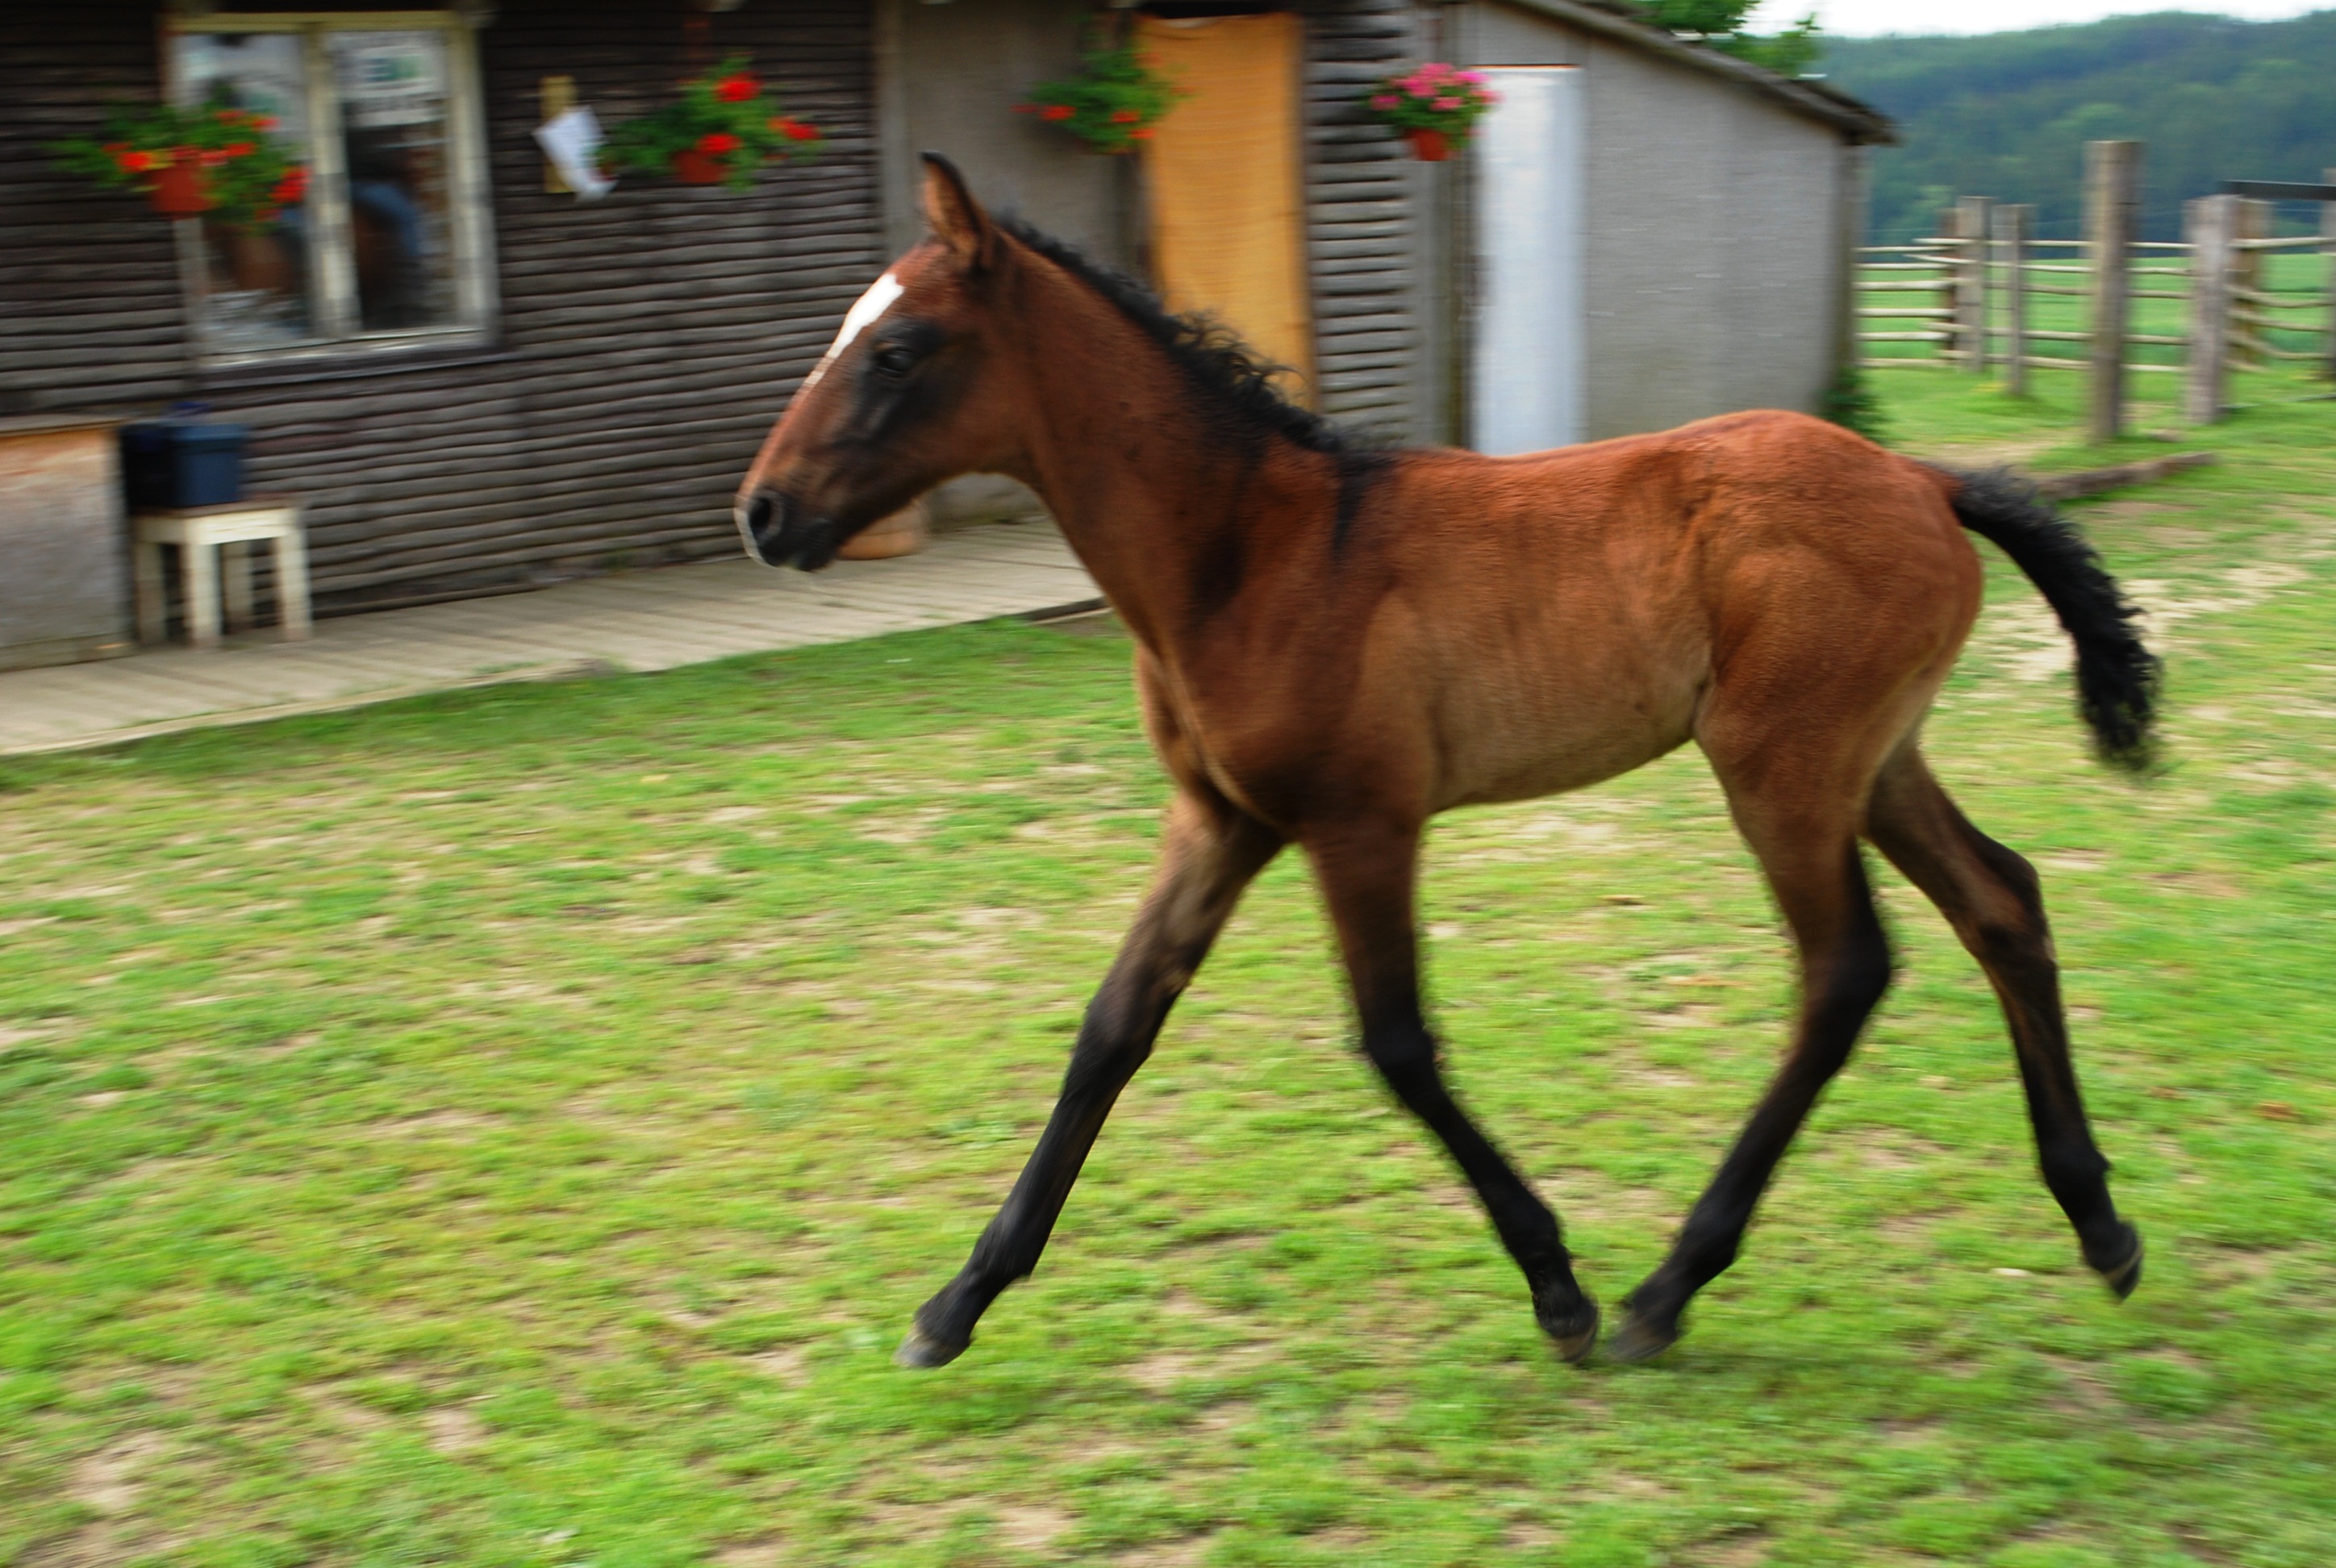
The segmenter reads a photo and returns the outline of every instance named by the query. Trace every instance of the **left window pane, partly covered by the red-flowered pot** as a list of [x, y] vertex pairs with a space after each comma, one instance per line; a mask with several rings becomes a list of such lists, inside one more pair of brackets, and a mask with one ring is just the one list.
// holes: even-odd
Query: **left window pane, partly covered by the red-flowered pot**
[[[292, 33], [180, 33], [182, 105], [273, 115], [273, 136], [311, 164], [301, 40]], [[203, 337], [213, 348], [278, 348], [315, 337], [308, 290], [308, 210], [287, 206], [257, 234], [203, 220]]]

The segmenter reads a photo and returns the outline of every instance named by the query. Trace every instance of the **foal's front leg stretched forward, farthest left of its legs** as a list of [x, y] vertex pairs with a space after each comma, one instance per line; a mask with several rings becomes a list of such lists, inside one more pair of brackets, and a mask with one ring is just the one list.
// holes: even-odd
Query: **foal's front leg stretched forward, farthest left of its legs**
[[955, 1360], [972, 1344], [974, 1323], [997, 1292], [1037, 1267], [1112, 1103], [1135, 1077], [1135, 1068], [1145, 1066], [1152, 1040], [1168, 1021], [1168, 1007], [1191, 984], [1240, 890], [1280, 846], [1273, 830], [1222, 799], [1184, 792], [1168, 809], [1152, 895], [1119, 944], [1103, 988], [1086, 1005], [1047, 1131], [958, 1278], [918, 1309], [895, 1353], [899, 1365], [941, 1367]]

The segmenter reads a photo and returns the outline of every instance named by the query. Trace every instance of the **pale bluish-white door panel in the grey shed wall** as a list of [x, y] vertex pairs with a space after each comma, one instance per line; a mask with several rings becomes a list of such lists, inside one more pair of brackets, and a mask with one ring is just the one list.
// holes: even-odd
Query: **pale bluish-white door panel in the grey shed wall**
[[1581, 439], [1581, 70], [1488, 68], [1479, 122], [1469, 439], [1518, 453]]

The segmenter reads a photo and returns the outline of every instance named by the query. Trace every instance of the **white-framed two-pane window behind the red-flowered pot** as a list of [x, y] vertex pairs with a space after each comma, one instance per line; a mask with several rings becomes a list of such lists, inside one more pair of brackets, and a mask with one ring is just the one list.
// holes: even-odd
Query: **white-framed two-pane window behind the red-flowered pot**
[[257, 234], [180, 222], [203, 358], [444, 344], [493, 320], [470, 28], [444, 12], [185, 16], [171, 96], [276, 119], [306, 199]]

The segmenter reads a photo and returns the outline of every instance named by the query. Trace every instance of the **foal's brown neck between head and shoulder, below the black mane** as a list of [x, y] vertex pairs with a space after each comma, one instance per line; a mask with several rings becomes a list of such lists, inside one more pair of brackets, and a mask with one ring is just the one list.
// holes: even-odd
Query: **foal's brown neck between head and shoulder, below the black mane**
[[1033, 488], [1128, 631], [1173, 666], [1259, 612], [1320, 547], [1336, 463], [1210, 407], [1168, 351], [1049, 264], [1030, 266]]

